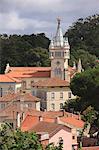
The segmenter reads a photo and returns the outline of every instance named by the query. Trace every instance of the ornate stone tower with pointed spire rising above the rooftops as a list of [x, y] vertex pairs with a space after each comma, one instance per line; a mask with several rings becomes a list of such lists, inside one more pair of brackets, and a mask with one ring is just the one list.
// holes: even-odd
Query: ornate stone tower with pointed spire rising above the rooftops
[[60, 19], [57, 19], [57, 31], [49, 45], [51, 60], [51, 78], [58, 77], [69, 81], [68, 60], [70, 59], [70, 46], [68, 38], [63, 37]]

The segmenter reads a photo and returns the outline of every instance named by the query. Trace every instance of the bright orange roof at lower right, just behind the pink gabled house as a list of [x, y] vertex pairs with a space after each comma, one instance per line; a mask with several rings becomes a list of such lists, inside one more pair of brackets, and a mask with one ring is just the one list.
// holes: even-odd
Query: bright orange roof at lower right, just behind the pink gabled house
[[76, 128], [83, 128], [84, 127], [84, 121], [78, 120], [74, 117], [60, 117], [60, 120], [64, 123], [67, 123], [71, 126], [74, 126]]

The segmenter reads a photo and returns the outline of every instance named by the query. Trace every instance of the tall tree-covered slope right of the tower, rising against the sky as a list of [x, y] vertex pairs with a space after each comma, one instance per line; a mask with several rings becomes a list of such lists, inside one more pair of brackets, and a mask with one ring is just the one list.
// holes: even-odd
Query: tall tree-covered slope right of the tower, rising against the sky
[[94, 66], [99, 58], [99, 15], [78, 19], [65, 36], [69, 37], [71, 46], [70, 63], [81, 58], [84, 69]]

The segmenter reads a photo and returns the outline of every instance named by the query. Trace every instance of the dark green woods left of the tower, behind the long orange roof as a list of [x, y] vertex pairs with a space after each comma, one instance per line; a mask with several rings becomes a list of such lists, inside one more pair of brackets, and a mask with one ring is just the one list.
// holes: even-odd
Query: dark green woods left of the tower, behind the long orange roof
[[44, 33], [37, 35], [10, 35], [0, 37], [0, 71], [7, 63], [11, 66], [49, 66], [49, 39]]

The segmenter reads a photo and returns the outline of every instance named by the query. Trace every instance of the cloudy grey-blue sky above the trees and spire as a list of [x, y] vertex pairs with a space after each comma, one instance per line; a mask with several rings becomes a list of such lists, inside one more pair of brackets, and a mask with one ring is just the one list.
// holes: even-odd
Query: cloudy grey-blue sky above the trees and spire
[[0, 0], [0, 33], [52, 36], [56, 18], [65, 32], [78, 18], [99, 14], [99, 0]]

